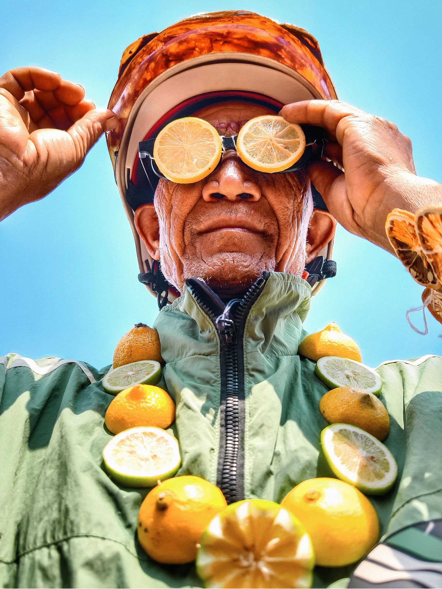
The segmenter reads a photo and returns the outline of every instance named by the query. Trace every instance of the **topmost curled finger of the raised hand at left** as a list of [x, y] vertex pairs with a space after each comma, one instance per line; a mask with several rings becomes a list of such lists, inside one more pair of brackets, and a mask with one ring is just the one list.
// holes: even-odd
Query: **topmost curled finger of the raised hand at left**
[[9, 70], [0, 77], [0, 88], [21, 100], [25, 92], [33, 90], [54, 91], [62, 82], [60, 74], [35, 67], [22, 67]]

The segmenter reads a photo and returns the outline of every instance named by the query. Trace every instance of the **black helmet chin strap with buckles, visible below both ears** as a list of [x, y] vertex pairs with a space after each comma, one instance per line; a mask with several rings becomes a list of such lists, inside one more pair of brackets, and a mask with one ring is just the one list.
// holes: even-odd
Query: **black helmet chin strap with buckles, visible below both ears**
[[[138, 274], [138, 280], [157, 293], [158, 308], [161, 310], [167, 305], [171, 286], [164, 278], [164, 274], [161, 272], [161, 264], [158, 260], [152, 260], [151, 265], [149, 264], [149, 260], [146, 260], [146, 266], [149, 268], [149, 272], [140, 272]], [[306, 265], [302, 274], [303, 278], [305, 274], [308, 274], [305, 278], [306, 281], [310, 286], [314, 286], [316, 282], [336, 276], [336, 262], [334, 260], [326, 260], [324, 256], [318, 256]]]

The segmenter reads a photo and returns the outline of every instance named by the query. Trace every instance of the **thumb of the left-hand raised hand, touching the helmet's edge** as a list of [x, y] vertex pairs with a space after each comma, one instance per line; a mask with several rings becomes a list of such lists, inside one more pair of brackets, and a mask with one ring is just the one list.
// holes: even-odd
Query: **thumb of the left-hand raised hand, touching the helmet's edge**
[[118, 118], [114, 112], [107, 108], [95, 108], [88, 111], [84, 117], [67, 130], [75, 143], [77, 165], [83, 162], [87, 152], [103, 135], [104, 131], [111, 131], [117, 123]]

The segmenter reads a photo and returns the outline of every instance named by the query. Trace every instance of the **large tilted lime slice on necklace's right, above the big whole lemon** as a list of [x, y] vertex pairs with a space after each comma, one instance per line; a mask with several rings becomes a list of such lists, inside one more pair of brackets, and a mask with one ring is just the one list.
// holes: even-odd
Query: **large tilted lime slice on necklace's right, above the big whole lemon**
[[397, 478], [397, 464], [390, 450], [363, 429], [333, 423], [321, 432], [325, 458], [341, 481], [367, 495], [383, 495]]

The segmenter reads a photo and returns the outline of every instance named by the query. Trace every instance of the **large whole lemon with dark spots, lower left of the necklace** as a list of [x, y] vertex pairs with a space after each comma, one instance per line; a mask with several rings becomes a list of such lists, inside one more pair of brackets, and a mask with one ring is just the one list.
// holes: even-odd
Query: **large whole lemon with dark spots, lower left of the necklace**
[[138, 540], [158, 562], [192, 562], [203, 531], [226, 507], [220, 489], [202, 478], [167, 479], [152, 489], [141, 504]]

